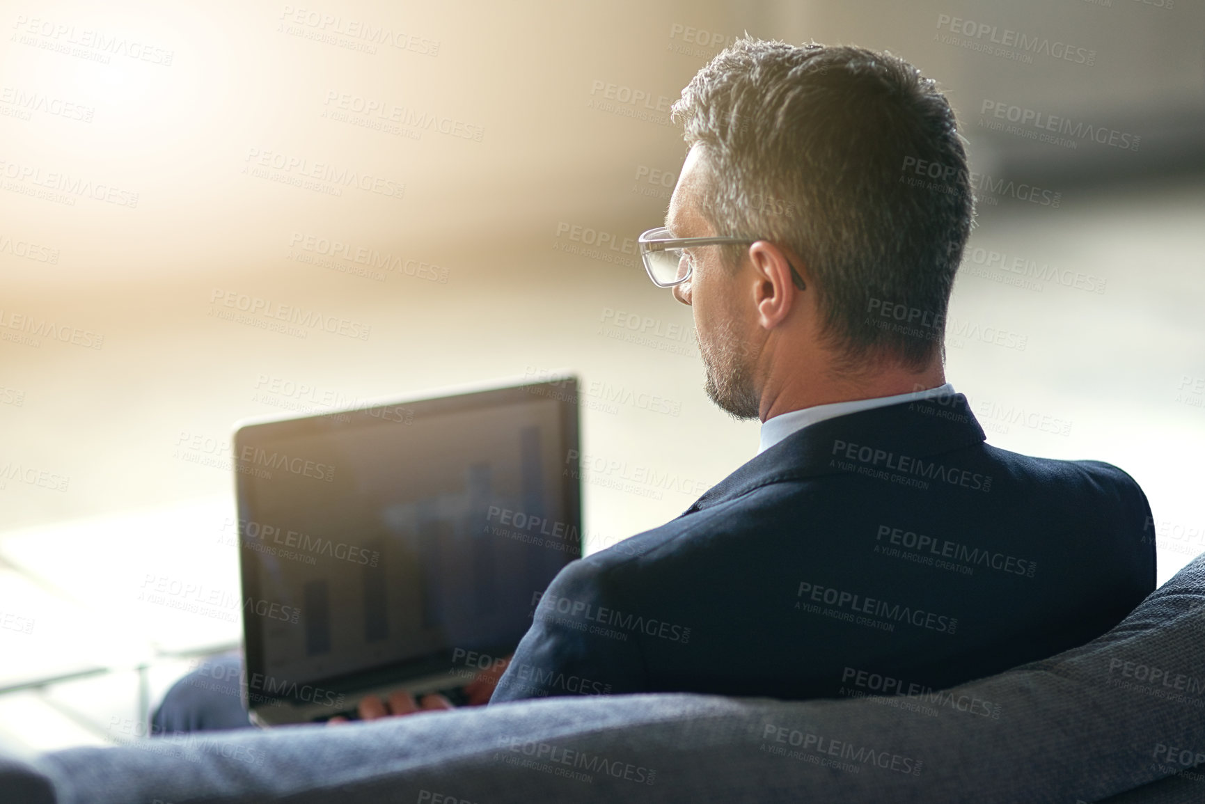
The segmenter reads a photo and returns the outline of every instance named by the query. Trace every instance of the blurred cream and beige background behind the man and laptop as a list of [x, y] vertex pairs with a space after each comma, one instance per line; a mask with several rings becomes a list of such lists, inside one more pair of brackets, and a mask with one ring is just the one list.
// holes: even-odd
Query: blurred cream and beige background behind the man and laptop
[[240, 417], [576, 370], [583, 451], [617, 466], [587, 475], [590, 548], [752, 457], [631, 247], [684, 155], [669, 104], [745, 31], [889, 49], [947, 89], [982, 178], [948, 378], [991, 442], [1129, 471], [1160, 581], [1205, 551], [1200, 4], [0, 10], [0, 738], [96, 739], [80, 702], [116, 693], [35, 681], [137, 664], [124, 717], [155, 657], [237, 641], [136, 594], [236, 588]]

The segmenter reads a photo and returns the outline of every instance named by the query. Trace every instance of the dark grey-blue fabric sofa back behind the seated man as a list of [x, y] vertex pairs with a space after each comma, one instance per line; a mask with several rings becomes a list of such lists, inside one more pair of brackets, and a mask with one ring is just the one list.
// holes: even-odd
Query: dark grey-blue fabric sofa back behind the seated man
[[[1091, 561], [1091, 557], [1084, 557]], [[1205, 556], [940, 696], [558, 698], [0, 758], [0, 802], [1205, 802]]]

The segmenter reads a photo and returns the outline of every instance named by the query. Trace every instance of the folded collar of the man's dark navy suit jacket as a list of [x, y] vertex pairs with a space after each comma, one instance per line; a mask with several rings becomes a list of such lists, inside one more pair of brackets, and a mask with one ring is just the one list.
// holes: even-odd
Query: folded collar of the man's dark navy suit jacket
[[[963, 394], [837, 416], [792, 433], [745, 463], [707, 489], [682, 516], [769, 483], [846, 471], [836, 465], [837, 459], [883, 469], [901, 458], [929, 458], [986, 438]], [[851, 446], [856, 456], [852, 459]]]

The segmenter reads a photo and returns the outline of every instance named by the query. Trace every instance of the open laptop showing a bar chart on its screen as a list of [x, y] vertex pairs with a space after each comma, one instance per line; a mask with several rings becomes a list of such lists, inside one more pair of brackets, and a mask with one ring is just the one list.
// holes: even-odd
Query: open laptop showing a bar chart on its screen
[[582, 554], [578, 456], [571, 375], [239, 422], [252, 721], [396, 689], [458, 703]]

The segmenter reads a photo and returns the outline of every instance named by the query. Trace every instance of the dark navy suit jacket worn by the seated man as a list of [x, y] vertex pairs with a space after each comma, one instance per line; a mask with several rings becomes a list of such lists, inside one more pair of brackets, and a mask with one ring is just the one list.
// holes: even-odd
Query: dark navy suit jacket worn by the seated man
[[1154, 589], [1129, 475], [989, 446], [944, 403], [806, 427], [569, 564], [492, 703], [940, 689], [1082, 645]]

